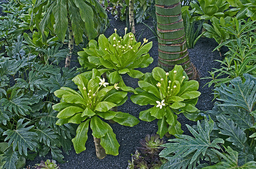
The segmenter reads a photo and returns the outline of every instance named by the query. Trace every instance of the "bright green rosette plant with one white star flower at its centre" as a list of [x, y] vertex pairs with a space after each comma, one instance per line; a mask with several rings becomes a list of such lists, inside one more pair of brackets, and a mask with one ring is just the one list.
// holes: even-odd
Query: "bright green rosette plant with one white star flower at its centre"
[[177, 115], [183, 113], [186, 118], [197, 121], [198, 109], [195, 108], [200, 92], [197, 91], [197, 81], [188, 81], [187, 74], [181, 65], [174, 66], [170, 72], [159, 67], [152, 73], [146, 73], [143, 81], [139, 81], [136, 88], [137, 95], [131, 96], [131, 101], [139, 105], [153, 105], [152, 108], [139, 113], [143, 121], [151, 122], [159, 119], [157, 134], [182, 134], [181, 123]]

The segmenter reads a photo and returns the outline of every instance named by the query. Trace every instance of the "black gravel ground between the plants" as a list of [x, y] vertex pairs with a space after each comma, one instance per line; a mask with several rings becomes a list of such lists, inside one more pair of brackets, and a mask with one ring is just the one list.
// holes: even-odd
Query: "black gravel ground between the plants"
[[[123, 36], [124, 28], [126, 27], [125, 21], [114, 20], [112, 16], [109, 16], [110, 25], [109, 28], [104, 33], [106, 37], [109, 37], [112, 33], [114, 33], [114, 28], [117, 29], [117, 32]], [[144, 21], [148, 26], [151, 26], [153, 29], [152, 21], [146, 20]], [[144, 24], [136, 24], [135, 25], [136, 32], [142, 33], [139, 41], [143, 41], [143, 38], [150, 39], [154, 37], [154, 34], [150, 29], [147, 28]], [[137, 36], [138, 39], [139, 36]], [[153, 57], [154, 61], [147, 68], [138, 69], [143, 73], [151, 72], [155, 66], [157, 66], [157, 39], [152, 38], [150, 41], [153, 42], [153, 46], [149, 52], [150, 56]], [[195, 45], [195, 48], [189, 50], [189, 56], [191, 62], [195, 65], [195, 67], [199, 70], [200, 78], [210, 76], [212, 68], [219, 68], [220, 64], [214, 60], [223, 60], [223, 57], [220, 56], [218, 51], [214, 51], [214, 48], [217, 46], [217, 43], [214, 39], [208, 38], [200, 38]], [[221, 52], [223, 55], [223, 52]], [[78, 62], [74, 62], [76, 57], [72, 60], [72, 65], [78, 65]], [[128, 75], [123, 76], [124, 81], [127, 86], [131, 86], [133, 88], [138, 87], [138, 79], [130, 78]], [[199, 110], [210, 110], [212, 109], [214, 102], [213, 87], [208, 88], [204, 86], [210, 79], [200, 79], [199, 80], [199, 91], [201, 95], [199, 96], [198, 104], [196, 107]], [[204, 87], [203, 87], [204, 86]], [[130, 96], [131, 94], [129, 94]], [[146, 110], [150, 108], [148, 106], [139, 106], [131, 102], [130, 99], [126, 101], [125, 104], [118, 107], [118, 111], [130, 113], [135, 117], [139, 118], [139, 112], [142, 110]], [[189, 124], [190, 126], [196, 124], [196, 122], [191, 122], [184, 117], [184, 115], [178, 115], [178, 121], [181, 123], [181, 128], [184, 130], [184, 134], [189, 135], [189, 131], [187, 130], [185, 124]], [[146, 134], [154, 134], [157, 132], [157, 121], [152, 122], [144, 122], [140, 121], [134, 127], [126, 127], [121, 126], [118, 123], [110, 124], [112, 126], [114, 133], [117, 136], [118, 143], [120, 144], [119, 155], [107, 155], [104, 159], [97, 159], [95, 153], [95, 145], [93, 143], [92, 131], [89, 129], [88, 131], [88, 140], [86, 142], [86, 150], [80, 154], [76, 154], [74, 148], [69, 152], [69, 154], [63, 154], [65, 156], [64, 160], [66, 163], [61, 164], [62, 169], [75, 169], [75, 168], [87, 168], [87, 169], [107, 169], [107, 168], [126, 168], [128, 164], [128, 160], [131, 159], [131, 154], [135, 153], [136, 147], [140, 146], [140, 139], [144, 139]], [[165, 140], [168, 138], [164, 137]], [[50, 155], [46, 155], [46, 157], [36, 157], [34, 161], [27, 161], [27, 165], [33, 166], [36, 163], [40, 163], [41, 160], [51, 159]]]

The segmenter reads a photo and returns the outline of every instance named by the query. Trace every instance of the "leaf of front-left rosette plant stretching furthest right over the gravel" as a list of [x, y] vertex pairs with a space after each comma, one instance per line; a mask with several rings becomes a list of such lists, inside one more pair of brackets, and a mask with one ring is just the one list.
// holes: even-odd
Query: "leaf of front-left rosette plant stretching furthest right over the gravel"
[[139, 120], [133, 115], [129, 113], [122, 113], [122, 112], [117, 112], [117, 114], [115, 115], [114, 118], [112, 118], [112, 120], [123, 126], [130, 126], [130, 127], [133, 127], [139, 123]]

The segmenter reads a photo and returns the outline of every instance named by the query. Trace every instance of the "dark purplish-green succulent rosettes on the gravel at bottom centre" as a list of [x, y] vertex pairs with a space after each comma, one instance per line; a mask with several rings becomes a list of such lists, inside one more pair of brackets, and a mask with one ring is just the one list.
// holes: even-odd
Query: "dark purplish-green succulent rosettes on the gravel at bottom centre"
[[166, 162], [164, 158], [159, 157], [159, 153], [164, 148], [163, 145], [165, 141], [160, 139], [157, 134], [146, 135], [145, 139], [140, 140], [139, 148], [136, 148], [135, 154], [131, 155], [131, 161], [127, 169], [132, 168], [159, 168], [162, 164]]

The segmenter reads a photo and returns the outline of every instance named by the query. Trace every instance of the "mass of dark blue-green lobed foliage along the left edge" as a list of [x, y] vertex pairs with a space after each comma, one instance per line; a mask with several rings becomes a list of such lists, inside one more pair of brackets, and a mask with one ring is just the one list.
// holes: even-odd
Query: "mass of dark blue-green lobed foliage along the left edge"
[[[24, 45], [23, 38], [8, 47], [7, 57], [0, 56], [0, 143], [3, 168], [16, 168], [20, 158], [33, 159], [37, 154], [63, 161], [62, 148], [71, 149], [75, 126], [57, 126], [57, 112], [52, 104], [59, 101], [53, 92], [62, 86], [74, 88], [73, 69], [41, 64]], [[50, 61], [48, 62], [50, 64]]]

